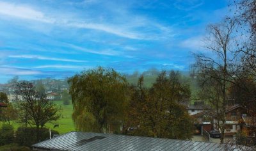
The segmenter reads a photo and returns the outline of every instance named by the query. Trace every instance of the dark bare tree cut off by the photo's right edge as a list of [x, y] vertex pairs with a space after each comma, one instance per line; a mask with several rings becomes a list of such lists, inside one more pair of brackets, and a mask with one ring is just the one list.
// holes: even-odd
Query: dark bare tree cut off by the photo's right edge
[[[237, 72], [236, 83], [233, 84], [231, 92], [232, 99], [245, 106], [252, 120], [252, 129], [248, 133], [256, 133], [253, 128], [256, 125], [256, 1], [234, 0], [231, 5], [234, 9], [234, 20], [237, 21], [236, 34], [246, 40], [237, 44], [237, 52], [241, 54], [240, 71]], [[235, 6], [235, 7], [233, 7]], [[248, 137], [248, 134], [237, 134], [237, 140], [231, 142], [233, 145], [246, 145], [249, 148], [242, 150], [255, 150], [256, 137]], [[243, 139], [241, 139], [243, 138]]]

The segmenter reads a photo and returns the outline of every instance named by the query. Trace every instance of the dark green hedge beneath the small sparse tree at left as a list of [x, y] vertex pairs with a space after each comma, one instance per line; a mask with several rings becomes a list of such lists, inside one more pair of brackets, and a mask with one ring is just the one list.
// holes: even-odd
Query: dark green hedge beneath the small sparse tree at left
[[[40, 141], [49, 139], [49, 129], [40, 129]], [[51, 136], [60, 134], [58, 131], [51, 131]], [[35, 127], [19, 127], [16, 133], [16, 143], [20, 146], [31, 147], [31, 145], [38, 143], [36, 141], [36, 128]]]

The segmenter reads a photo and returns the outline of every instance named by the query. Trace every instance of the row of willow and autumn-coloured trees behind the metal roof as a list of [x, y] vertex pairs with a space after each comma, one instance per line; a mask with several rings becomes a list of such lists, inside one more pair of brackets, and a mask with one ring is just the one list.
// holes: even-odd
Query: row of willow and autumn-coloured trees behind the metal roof
[[[159, 138], [191, 138], [193, 119], [186, 111], [190, 98], [188, 83], [179, 72], [161, 72], [151, 88], [128, 84], [112, 68], [94, 68], [76, 74], [68, 81], [79, 131], [120, 132]], [[129, 131], [134, 127], [136, 131]], [[127, 132], [128, 130], [128, 132]]]

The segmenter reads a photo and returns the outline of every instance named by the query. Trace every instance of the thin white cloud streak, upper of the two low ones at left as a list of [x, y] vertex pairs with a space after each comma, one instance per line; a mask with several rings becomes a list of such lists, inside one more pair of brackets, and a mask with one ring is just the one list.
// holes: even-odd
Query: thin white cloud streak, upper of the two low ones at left
[[77, 63], [87, 62], [85, 60], [69, 60], [69, 59], [63, 59], [63, 58], [51, 58], [51, 57], [36, 56], [36, 55], [10, 55], [10, 56], [8, 56], [8, 58], [52, 60], [52, 61], [67, 61], [67, 62], [77, 62]]

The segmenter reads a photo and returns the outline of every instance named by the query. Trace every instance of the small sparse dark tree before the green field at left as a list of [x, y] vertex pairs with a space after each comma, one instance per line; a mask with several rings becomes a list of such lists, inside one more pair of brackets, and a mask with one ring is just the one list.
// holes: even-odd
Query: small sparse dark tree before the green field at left
[[33, 84], [27, 81], [16, 83], [15, 93], [22, 96], [22, 99], [17, 97], [19, 110], [24, 113], [22, 118], [36, 126], [36, 138], [39, 141], [40, 128], [42, 129], [47, 122], [58, 120], [60, 108], [49, 102], [45, 95], [38, 93]]

